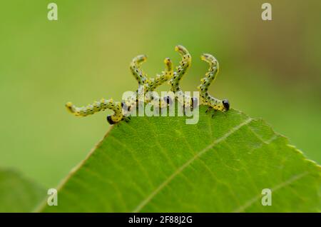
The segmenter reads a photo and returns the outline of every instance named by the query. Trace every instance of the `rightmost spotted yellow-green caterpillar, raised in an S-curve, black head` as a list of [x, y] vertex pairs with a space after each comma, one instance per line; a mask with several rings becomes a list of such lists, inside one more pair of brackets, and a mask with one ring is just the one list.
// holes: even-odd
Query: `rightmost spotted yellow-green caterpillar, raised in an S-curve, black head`
[[210, 54], [203, 54], [200, 57], [200, 59], [210, 64], [210, 68], [208, 69], [208, 72], [205, 74], [205, 77], [203, 79], [200, 79], [201, 84], [200, 86], [198, 86], [198, 90], [200, 91], [200, 98], [202, 99], [203, 103], [208, 105], [210, 108], [213, 108], [218, 111], [228, 111], [230, 109], [230, 103], [227, 99], [216, 99], [213, 96], [210, 96], [210, 94], [208, 94], [208, 87], [216, 79], [216, 76], [218, 75], [218, 61], [215, 59], [214, 56]]

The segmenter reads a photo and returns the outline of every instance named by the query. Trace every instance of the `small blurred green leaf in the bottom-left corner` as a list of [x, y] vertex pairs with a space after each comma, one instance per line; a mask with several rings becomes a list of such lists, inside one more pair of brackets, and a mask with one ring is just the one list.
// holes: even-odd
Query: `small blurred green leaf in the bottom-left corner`
[[0, 213], [31, 212], [46, 197], [46, 191], [20, 173], [0, 168]]

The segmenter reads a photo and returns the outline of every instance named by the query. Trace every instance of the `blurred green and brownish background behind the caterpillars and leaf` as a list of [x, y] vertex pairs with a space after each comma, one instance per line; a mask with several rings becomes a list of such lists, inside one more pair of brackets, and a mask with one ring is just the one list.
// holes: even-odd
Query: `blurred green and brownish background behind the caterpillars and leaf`
[[211, 94], [321, 163], [321, 1], [267, 1], [272, 21], [261, 19], [265, 1], [55, 0], [58, 21], [47, 19], [50, 2], [1, 1], [1, 167], [55, 187], [109, 127], [106, 112], [76, 118], [66, 101], [121, 99], [137, 86], [133, 56], [147, 54], [153, 76], [165, 57], [178, 63], [176, 44], [193, 56], [185, 91], [208, 68], [200, 54], [213, 54]]

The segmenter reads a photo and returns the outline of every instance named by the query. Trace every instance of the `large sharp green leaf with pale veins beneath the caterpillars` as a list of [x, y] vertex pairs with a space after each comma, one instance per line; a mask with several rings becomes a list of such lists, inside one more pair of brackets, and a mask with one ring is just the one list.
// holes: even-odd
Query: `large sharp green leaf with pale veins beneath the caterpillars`
[[113, 126], [42, 211], [320, 211], [320, 166], [260, 119], [205, 109], [195, 125], [176, 116]]

